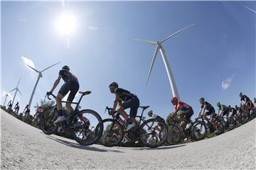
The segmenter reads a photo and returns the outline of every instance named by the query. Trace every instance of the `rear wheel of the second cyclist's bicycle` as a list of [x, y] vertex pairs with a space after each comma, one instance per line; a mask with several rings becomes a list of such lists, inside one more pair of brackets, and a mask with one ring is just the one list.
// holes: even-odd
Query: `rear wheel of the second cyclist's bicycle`
[[158, 119], [146, 120], [139, 127], [139, 140], [146, 147], [160, 147], [166, 141], [168, 135], [167, 126]]

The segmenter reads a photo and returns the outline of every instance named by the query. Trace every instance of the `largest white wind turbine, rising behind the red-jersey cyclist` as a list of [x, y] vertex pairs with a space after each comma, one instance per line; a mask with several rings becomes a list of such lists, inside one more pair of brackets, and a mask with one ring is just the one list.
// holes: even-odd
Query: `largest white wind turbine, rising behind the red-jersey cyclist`
[[164, 51], [164, 47], [161, 45], [161, 43], [165, 42], [166, 40], [168, 40], [169, 38], [173, 37], [174, 35], [180, 33], [181, 31], [183, 30], [186, 30], [186, 28], [189, 28], [191, 26], [195, 25], [195, 23], [193, 23], [192, 25], [190, 26], [186, 26], [185, 28], [182, 28], [181, 30], [178, 30], [176, 33], [173, 33], [171, 35], [169, 35], [169, 37], [167, 38], [164, 38], [164, 40], [161, 40], [161, 41], [150, 41], [150, 40], [140, 40], [140, 39], [135, 39], [135, 40], [139, 40], [139, 41], [142, 41], [142, 42], [148, 42], [149, 44], [151, 45], [156, 45], [156, 50], [154, 52], [154, 56], [153, 56], [153, 60], [151, 62], [151, 66], [150, 66], [150, 69], [149, 69], [149, 75], [148, 75], [148, 78], [146, 79], [146, 84], [148, 84], [148, 81], [149, 81], [149, 76], [151, 74], [151, 70], [152, 70], [152, 67], [154, 65], [154, 61], [156, 60], [156, 55], [157, 55], [157, 52], [161, 52], [161, 56], [162, 56], [162, 59], [164, 61], [164, 66], [166, 68], [166, 72], [167, 72], [167, 75], [168, 75], [168, 78], [169, 78], [169, 82], [170, 82], [170, 85], [171, 85], [171, 91], [172, 91], [172, 94], [173, 96], [175, 96], [176, 98], [178, 98], [178, 101], [180, 100], [179, 98], [179, 95], [178, 95], [178, 90], [177, 90], [177, 87], [176, 87], [176, 83], [175, 83], [175, 80], [174, 80], [174, 75], [172, 74], [171, 72], [171, 68], [169, 66], [169, 62], [167, 60], [167, 57], [166, 57], [166, 54], [165, 54], [165, 51]]

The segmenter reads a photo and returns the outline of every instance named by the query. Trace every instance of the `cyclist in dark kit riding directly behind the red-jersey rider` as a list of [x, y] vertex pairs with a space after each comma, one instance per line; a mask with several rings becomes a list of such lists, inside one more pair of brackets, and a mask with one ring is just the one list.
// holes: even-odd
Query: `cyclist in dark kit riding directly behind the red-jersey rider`
[[[210, 123], [213, 124], [213, 127], [217, 129], [217, 125], [214, 123], [214, 118], [215, 118], [215, 109], [213, 106], [211, 106], [210, 103], [205, 101], [205, 98], [200, 98], [199, 102], [201, 103], [201, 111], [200, 115], [203, 115], [204, 118], [207, 118], [207, 115], [210, 115]], [[207, 112], [206, 112], [207, 111]]]

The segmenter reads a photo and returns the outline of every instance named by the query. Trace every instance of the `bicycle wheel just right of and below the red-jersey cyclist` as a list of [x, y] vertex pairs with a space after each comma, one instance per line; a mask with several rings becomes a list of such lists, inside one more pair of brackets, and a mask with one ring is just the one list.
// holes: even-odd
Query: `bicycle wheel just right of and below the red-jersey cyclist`
[[199, 120], [195, 121], [193, 123], [193, 127], [191, 128], [191, 132], [191, 137], [193, 140], [203, 140], [207, 135], [206, 124]]

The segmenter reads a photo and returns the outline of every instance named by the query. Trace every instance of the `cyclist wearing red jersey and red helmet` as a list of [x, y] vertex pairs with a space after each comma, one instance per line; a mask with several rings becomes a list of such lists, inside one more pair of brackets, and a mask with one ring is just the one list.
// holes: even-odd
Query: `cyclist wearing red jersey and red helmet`
[[178, 101], [178, 98], [173, 97], [171, 98], [171, 103], [173, 103], [175, 111], [174, 111], [174, 115], [176, 115], [176, 113], [180, 113], [180, 117], [181, 117], [181, 125], [183, 125], [183, 123], [187, 123], [186, 125], [186, 129], [191, 127], [191, 116], [193, 115], [193, 109], [191, 106], [189, 106], [186, 103], [183, 103], [181, 101]]

